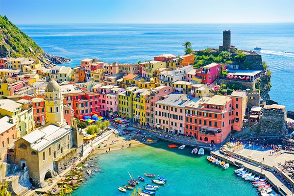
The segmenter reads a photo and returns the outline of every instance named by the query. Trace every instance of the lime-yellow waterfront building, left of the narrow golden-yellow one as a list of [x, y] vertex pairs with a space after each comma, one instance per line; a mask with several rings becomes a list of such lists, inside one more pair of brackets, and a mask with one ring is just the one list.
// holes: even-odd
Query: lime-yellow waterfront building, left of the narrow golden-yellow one
[[130, 118], [133, 121], [133, 92], [138, 87], [128, 87], [126, 91], [118, 94], [119, 99], [119, 115], [122, 117]]

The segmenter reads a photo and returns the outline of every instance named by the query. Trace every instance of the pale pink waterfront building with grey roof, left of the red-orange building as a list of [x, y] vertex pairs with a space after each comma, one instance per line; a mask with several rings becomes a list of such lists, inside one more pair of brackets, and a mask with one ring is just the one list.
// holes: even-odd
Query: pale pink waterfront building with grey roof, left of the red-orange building
[[184, 134], [185, 105], [192, 97], [186, 94], [172, 93], [163, 100], [155, 102], [155, 126], [166, 132]]

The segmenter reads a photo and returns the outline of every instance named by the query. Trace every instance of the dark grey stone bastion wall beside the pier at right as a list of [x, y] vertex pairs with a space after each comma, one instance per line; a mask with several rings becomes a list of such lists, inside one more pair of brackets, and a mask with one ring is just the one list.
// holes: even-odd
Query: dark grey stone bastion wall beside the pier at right
[[266, 135], [282, 135], [286, 130], [286, 110], [263, 110], [260, 133]]

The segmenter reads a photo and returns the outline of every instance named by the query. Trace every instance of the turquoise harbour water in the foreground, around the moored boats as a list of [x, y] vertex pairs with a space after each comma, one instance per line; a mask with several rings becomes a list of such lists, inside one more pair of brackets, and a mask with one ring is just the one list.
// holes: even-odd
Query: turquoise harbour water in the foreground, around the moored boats
[[[237, 178], [230, 167], [223, 170], [208, 163], [206, 156], [192, 155], [192, 148], [169, 148], [169, 143], [159, 142], [151, 146], [134, 147], [94, 156], [101, 172], [96, 172], [72, 196], [128, 196], [118, 187], [127, 184], [128, 172], [138, 175], [154, 173], [168, 180], [156, 191], [157, 196], [257, 196], [249, 182]], [[145, 176], [145, 182], [151, 184]], [[143, 187], [144, 183], [139, 186]]]

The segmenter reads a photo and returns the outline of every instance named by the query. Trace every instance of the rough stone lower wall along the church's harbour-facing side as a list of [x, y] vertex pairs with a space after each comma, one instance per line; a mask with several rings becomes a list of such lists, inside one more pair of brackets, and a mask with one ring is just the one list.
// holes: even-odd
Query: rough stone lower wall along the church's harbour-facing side
[[78, 149], [73, 148], [68, 153], [54, 161], [54, 171], [58, 174], [71, 167], [79, 158]]

